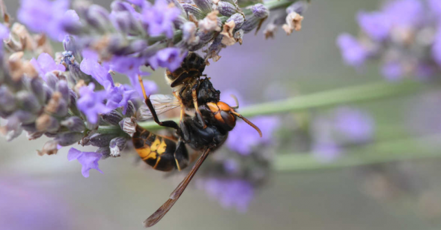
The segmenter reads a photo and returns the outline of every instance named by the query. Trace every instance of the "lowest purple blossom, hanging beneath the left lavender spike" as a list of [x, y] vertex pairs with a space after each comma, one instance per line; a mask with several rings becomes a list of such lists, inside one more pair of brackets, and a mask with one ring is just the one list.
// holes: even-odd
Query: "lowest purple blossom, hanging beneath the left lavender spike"
[[89, 177], [90, 169], [96, 169], [96, 171], [103, 173], [98, 167], [98, 161], [101, 159], [101, 154], [94, 151], [79, 151], [75, 148], [70, 148], [68, 152], [68, 160], [78, 160], [78, 162], [83, 165], [81, 168], [81, 174], [85, 178]]

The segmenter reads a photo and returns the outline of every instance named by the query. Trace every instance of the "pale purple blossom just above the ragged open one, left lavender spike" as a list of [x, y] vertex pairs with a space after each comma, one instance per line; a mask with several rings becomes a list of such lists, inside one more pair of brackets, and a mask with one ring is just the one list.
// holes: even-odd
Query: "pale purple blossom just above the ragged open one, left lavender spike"
[[105, 88], [114, 87], [112, 76], [110, 76], [108, 65], [101, 65], [98, 62], [98, 54], [93, 50], [83, 50], [83, 61], [80, 64], [80, 70], [85, 74], [92, 76], [98, 83]]

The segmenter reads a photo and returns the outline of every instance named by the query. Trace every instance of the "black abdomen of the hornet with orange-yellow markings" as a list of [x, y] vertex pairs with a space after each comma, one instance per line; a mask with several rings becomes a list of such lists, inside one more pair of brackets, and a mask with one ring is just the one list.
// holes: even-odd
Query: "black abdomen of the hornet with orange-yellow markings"
[[188, 165], [187, 149], [182, 142], [153, 134], [140, 126], [136, 127], [132, 141], [139, 156], [156, 170], [181, 170]]

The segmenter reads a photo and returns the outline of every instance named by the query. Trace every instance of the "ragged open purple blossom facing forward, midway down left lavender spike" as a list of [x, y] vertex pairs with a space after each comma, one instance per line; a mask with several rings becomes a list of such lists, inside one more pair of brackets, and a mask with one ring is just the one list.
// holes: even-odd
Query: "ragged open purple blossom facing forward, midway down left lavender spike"
[[94, 92], [94, 89], [94, 83], [81, 87], [79, 89], [80, 98], [76, 101], [76, 106], [92, 124], [98, 122], [99, 114], [105, 114], [112, 110], [104, 105], [107, 93], [105, 91]]

